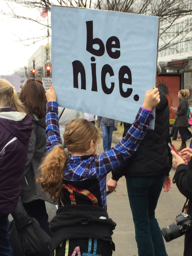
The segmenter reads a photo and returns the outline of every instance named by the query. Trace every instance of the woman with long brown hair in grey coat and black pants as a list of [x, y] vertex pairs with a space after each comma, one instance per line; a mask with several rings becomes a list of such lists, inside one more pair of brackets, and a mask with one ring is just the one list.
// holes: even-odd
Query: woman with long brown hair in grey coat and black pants
[[19, 99], [33, 117], [33, 131], [29, 140], [27, 163], [20, 197], [28, 215], [35, 218], [41, 228], [50, 235], [45, 201], [51, 201], [43, 193], [41, 186], [35, 183], [40, 161], [47, 153], [45, 133], [47, 100], [42, 83], [34, 79], [28, 80], [22, 87]]

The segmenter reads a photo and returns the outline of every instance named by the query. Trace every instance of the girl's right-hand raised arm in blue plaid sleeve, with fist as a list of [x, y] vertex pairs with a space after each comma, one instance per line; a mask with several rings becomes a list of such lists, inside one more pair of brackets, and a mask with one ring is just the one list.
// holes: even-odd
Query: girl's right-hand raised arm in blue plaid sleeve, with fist
[[137, 150], [147, 132], [150, 120], [153, 118], [151, 110], [158, 105], [159, 101], [158, 88], [146, 92], [143, 106], [139, 109], [136, 119], [126, 133], [126, 136], [112, 150], [95, 157], [95, 167], [100, 175], [109, 173]]

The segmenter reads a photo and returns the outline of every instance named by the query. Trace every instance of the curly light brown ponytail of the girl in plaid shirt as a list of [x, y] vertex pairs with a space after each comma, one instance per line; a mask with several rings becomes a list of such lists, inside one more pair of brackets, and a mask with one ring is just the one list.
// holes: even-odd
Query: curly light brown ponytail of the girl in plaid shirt
[[44, 193], [51, 196], [53, 202], [62, 195], [63, 172], [68, 156], [69, 153], [62, 145], [54, 146], [39, 166], [41, 176], [36, 181], [41, 184]]

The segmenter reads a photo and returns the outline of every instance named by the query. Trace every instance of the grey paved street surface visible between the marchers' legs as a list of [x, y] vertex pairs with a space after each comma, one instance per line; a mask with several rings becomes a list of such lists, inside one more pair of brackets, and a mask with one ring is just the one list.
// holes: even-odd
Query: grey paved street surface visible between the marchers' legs
[[[176, 148], [180, 146], [180, 143], [180, 140], [174, 141]], [[112, 146], [114, 145], [115, 144], [113, 143]], [[189, 141], [187, 141], [187, 145], [189, 146]], [[101, 152], [102, 139], [99, 148], [99, 151]], [[172, 169], [170, 171], [171, 178], [173, 178], [174, 173], [175, 171]], [[107, 180], [110, 178], [111, 174], [108, 174]], [[161, 228], [175, 222], [175, 217], [180, 213], [184, 202], [185, 197], [178, 191], [175, 184], [172, 185], [172, 188], [168, 193], [164, 193], [162, 190], [156, 208], [156, 218]], [[47, 205], [48, 214], [51, 219], [55, 215], [56, 208], [53, 205]], [[107, 196], [107, 206], [109, 217], [111, 217], [113, 221], [117, 223], [113, 234], [113, 241], [116, 247], [113, 256], [137, 256], [138, 254], [137, 245], [135, 242], [134, 225], [124, 177], [118, 181], [116, 193], [114, 192]], [[182, 256], [184, 248], [184, 236], [181, 236], [168, 243], [165, 242], [165, 246], [169, 256]]]

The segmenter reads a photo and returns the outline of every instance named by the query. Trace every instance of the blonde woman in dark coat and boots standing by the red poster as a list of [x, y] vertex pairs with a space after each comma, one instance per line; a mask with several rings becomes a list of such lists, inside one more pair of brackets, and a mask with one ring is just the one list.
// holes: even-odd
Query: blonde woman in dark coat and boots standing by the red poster
[[189, 96], [188, 89], [182, 89], [178, 91], [178, 99], [179, 105], [177, 108], [177, 114], [175, 120], [177, 120], [176, 126], [178, 127], [179, 134], [181, 136], [181, 146], [177, 151], [181, 151], [182, 149], [186, 148], [186, 129], [189, 126], [189, 120], [187, 117], [187, 110], [188, 110], [188, 101], [186, 97]]

